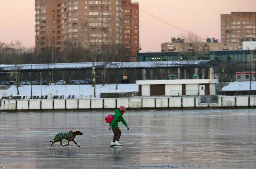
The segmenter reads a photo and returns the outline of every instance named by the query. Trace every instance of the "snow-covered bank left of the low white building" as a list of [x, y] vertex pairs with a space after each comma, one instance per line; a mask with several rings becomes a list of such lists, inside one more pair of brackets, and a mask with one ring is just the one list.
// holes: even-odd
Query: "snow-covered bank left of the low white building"
[[[100, 93], [121, 93], [121, 92], [138, 92], [139, 85], [137, 84], [118, 84], [118, 89], [116, 90], [116, 84], [102, 84], [96, 85], [96, 97], [100, 98]], [[19, 87], [19, 96], [30, 96], [31, 95], [31, 86], [30, 85], [21, 85]], [[11, 86], [9, 89], [5, 90], [5, 95], [17, 96], [16, 86]], [[89, 98], [90, 95], [93, 97], [94, 87], [92, 85], [42, 85], [42, 95], [47, 95], [52, 93], [54, 95], [64, 95], [68, 97], [69, 95], [75, 95], [75, 98]], [[32, 95], [40, 96], [40, 85], [32, 85]]]

